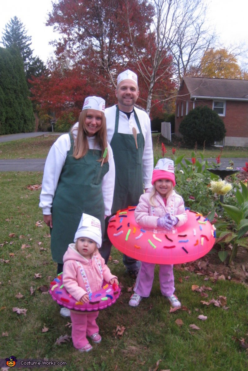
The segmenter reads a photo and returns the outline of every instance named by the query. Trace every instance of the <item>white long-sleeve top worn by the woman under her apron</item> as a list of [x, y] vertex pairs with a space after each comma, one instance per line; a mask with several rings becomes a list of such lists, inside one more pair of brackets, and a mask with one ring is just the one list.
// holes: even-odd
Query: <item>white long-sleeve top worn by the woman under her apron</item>
[[[78, 127], [78, 123], [74, 125], [74, 128]], [[77, 131], [74, 130], [74, 140], [76, 138]], [[98, 145], [95, 145], [94, 137], [87, 137], [90, 150], [101, 150]], [[44, 175], [42, 180], [42, 191], [40, 193], [39, 207], [42, 208], [44, 215], [51, 214], [51, 207], [53, 203], [53, 197], [58, 185], [59, 177], [62, 168], [65, 164], [67, 152], [71, 148], [71, 140], [69, 134], [62, 134], [56, 142], [50, 148], [48, 157], [46, 158]], [[111, 215], [111, 207], [113, 202], [114, 194], [114, 179], [115, 179], [115, 166], [113, 152], [108, 144], [108, 163], [109, 171], [104, 175], [102, 179], [102, 195], [104, 200], [104, 214], [106, 216]]]

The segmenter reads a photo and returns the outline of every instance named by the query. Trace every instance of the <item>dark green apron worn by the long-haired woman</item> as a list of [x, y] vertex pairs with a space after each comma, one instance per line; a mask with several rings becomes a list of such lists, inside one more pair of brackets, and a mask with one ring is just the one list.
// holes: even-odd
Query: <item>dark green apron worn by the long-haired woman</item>
[[101, 166], [100, 150], [88, 150], [87, 155], [76, 160], [73, 157], [74, 140], [65, 159], [53, 198], [51, 229], [52, 258], [63, 263], [68, 245], [73, 243], [82, 213], [90, 214], [101, 221], [104, 235], [104, 201], [102, 178], [109, 170], [108, 162]]

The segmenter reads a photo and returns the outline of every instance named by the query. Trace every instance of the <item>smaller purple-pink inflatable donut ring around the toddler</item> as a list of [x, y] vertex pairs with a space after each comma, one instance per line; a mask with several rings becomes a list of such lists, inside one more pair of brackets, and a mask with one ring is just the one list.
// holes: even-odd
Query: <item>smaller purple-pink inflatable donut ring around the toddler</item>
[[50, 282], [50, 294], [53, 300], [69, 309], [75, 311], [99, 311], [105, 309], [116, 302], [120, 296], [120, 288], [115, 283], [110, 285], [106, 281], [103, 282], [101, 290], [89, 294], [89, 302], [82, 303], [76, 301], [63, 286], [63, 274], [59, 274], [52, 282]]

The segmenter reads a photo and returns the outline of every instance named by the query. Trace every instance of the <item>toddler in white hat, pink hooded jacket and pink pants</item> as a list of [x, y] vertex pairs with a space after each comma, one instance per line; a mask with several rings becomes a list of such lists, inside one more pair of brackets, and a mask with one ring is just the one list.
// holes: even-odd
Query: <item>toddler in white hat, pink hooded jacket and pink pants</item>
[[[68, 246], [63, 256], [63, 284], [77, 301], [87, 303], [89, 293], [100, 290], [103, 280], [118, 283], [98, 252], [102, 243], [101, 223], [99, 219], [82, 214], [74, 242]], [[80, 352], [92, 349], [87, 336], [92, 342], [101, 342], [99, 327], [96, 323], [99, 311], [81, 312], [71, 310], [72, 341]]]

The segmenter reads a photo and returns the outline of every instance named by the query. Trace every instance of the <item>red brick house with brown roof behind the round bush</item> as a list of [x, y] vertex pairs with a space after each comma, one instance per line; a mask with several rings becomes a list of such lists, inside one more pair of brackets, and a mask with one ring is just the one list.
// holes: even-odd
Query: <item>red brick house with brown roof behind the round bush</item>
[[224, 141], [216, 145], [248, 147], [248, 80], [184, 77], [176, 99], [177, 136], [182, 119], [198, 106], [213, 109], [225, 124]]

